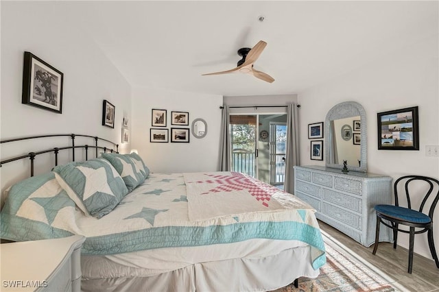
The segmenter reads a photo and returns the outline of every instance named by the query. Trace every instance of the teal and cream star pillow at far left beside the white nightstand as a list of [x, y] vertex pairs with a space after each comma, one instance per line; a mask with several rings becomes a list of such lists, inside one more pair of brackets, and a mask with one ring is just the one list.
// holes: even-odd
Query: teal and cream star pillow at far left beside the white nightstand
[[[27, 178], [8, 188], [1, 210], [0, 237], [36, 241], [70, 236], [60, 229], [58, 215], [75, 210], [75, 202], [58, 184], [53, 172]], [[61, 215], [62, 216], [62, 215]]]

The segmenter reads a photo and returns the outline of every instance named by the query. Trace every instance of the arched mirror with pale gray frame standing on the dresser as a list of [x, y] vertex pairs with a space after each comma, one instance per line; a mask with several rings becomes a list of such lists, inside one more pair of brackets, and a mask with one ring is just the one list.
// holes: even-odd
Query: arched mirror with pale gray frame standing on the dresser
[[346, 101], [329, 110], [324, 125], [327, 167], [367, 171], [366, 111], [355, 101]]

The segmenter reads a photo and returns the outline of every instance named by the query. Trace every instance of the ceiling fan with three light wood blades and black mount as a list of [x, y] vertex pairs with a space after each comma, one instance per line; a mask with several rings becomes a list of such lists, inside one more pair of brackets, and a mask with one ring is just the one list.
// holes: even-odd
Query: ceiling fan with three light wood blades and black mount
[[227, 74], [227, 73], [244, 73], [250, 74], [254, 77], [257, 77], [265, 82], [274, 82], [274, 78], [268, 75], [267, 73], [263, 73], [261, 71], [257, 71], [253, 68], [254, 62], [258, 60], [261, 55], [263, 49], [267, 46], [267, 42], [263, 40], [259, 40], [259, 42], [250, 48], [242, 48], [238, 50], [238, 55], [242, 57], [241, 60], [238, 61], [237, 67], [234, 69], [230, 69], [227, 71], [215, 72], [215, 73], [207, 73], [202, 75], [219, 75], [219, 74]]

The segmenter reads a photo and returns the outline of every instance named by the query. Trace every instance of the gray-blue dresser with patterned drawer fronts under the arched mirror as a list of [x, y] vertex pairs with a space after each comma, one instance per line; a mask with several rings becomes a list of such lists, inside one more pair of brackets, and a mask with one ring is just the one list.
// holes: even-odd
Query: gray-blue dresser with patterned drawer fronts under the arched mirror
[[[377, 204], [391, 204], [392, 178], [385, 175], [309, 166], [294, 167], [294, 194], [316, 208], [316, 217], [364, 246], [375, 243]], [[392, 242], [381, 228], [379, 241]]]

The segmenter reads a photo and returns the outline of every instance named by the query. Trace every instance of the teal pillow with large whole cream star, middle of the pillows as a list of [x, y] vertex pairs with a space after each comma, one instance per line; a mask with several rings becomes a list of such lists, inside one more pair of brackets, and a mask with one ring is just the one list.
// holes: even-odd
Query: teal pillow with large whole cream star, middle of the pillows
[[128, 193], [119, 173], [105, 159], [58, 165], [53, 171], [84, 214], [97, 219], [111, 212]]

